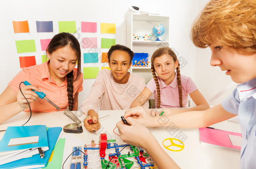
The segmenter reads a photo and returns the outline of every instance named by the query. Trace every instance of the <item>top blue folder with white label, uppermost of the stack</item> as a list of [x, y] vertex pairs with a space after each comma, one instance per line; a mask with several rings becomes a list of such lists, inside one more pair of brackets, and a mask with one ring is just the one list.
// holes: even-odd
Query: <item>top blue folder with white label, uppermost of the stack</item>
[[45, 125], [10, 126], [0, 141], [0, 156], [38, 147], [48, 149]]

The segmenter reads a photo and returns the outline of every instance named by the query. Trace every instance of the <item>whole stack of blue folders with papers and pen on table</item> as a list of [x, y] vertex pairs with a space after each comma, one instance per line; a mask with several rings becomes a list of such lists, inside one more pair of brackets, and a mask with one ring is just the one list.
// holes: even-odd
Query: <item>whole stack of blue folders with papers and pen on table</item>
[[45, 125], [8, 127], [0, 141], [0, 169], [45, 167], [61, 130]]

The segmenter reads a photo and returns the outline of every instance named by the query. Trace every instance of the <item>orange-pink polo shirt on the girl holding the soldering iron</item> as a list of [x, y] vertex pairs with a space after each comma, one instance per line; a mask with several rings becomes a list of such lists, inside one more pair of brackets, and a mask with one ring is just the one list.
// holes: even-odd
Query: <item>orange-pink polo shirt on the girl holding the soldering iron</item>
[[[74, 78], [76, 78], [77, 71], [73, 71]], [[50, 77], [49, 68], [47, 62], [31, 66], [28, 68], [22, 68], [22, 70], [10, 81], [8, 86], [15, 92], [19, 90], [19, 84], [22, 81], [28, 81], [31, 85], [38, 85], [38, 88], [46, 94], [45, 97], [60, 107], [60, 111], [65, 110], [68, 107], [68, 91], [67, 91], [67, 78], [60, 85], [57, 86], [53, 78]], [[73, 82], [73, 96], [83, 90], [83, 74], [77, 81]], [[24, 84], [21, 84], [21, 87]], [[31, 111], [33, 112], [54, 112], [58, 111], [45, 99], [39, 98], [38, 101], [30, 103]], [[29, 111], [29, 108], [24, 111]]]

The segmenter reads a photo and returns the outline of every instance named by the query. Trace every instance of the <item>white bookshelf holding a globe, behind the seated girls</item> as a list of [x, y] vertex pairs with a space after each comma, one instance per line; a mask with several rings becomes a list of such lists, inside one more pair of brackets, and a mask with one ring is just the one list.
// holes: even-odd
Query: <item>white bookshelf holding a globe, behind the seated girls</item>
[[[162, 41], [154, 41], [156, 38], [152, 33], [154, 25], [162, 24], [165, 26], [165, 33], [159, 37]], [[140, 13], [131, 13], [127, 18], [127, 47], [131, 48], [134, 53], [148, 53], [149, 61], [157, 48], [169, 46], [169, 28], [170, 17], [162, 15], [145, 15]], [[149, 35], [152, 40], [133, 40], [135, 35]], [[151, 64], [150, 64], [151, 65]], [[145, 78], [148, 82], [153, 76], [151, 66], [149, 67], [131, 67], [131, 72]]]

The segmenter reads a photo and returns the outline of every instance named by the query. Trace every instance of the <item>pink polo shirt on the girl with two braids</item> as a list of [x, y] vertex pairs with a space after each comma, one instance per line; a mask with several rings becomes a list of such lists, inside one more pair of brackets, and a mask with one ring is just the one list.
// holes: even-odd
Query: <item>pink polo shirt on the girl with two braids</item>
[[[157, 79], [160, 86], [160, 96], [161, 96], [160, 108], [180, 107], [177, 73], [172, 83], [170, 83], [168, 86], [165, 84], [162, 78], [159, 78], [157, 76]], [[183, 107], [186, 107], [188, 103], [188, 94], [192, 93], [197, 88], [196, 88], [196, 84], [188, 76], [180, 75], [180, 80], [181, 80], [181, 89], [182, 89], [182, 103], [183, 103]], [[158, 103], [157, 85], [154, 81], [154, 78], [152, 78], [149, 81], [149, 83], [147, 83], [146, 87], [149, 88], [149, 90], [152, 93], [154, 93], [155, 103], [157, 107], [157, 103]]]

